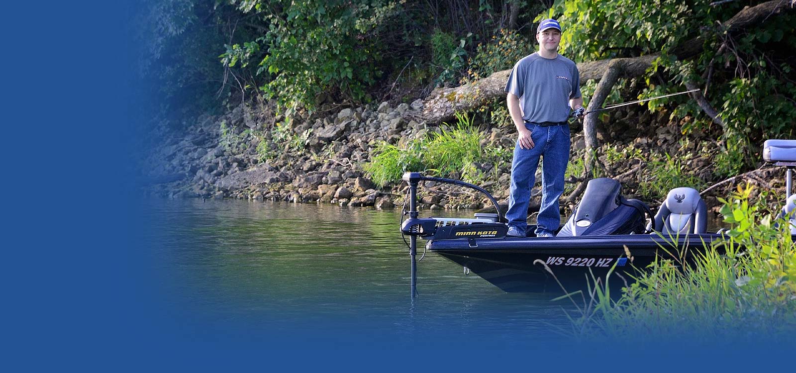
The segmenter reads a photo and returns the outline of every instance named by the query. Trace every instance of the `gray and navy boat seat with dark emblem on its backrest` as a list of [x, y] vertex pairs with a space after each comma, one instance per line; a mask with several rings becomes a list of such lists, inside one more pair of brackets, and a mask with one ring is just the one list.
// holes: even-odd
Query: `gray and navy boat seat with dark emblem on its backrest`
[[673, 188], [655, 214], [655, 231], [661, 233], [707, 233], [708, 207], [694, 188]]

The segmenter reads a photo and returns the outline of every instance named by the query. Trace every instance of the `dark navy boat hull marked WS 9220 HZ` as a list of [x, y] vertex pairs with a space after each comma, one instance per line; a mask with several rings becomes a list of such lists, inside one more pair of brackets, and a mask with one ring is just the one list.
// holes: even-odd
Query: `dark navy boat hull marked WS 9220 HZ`
[[625, 286], [656, 258], [672, 258], [678, 265], [692, 262], [721, 238], [709, 234], [431, 239], [426, 247], [506, 292], [563, 293], [585, 289], [592, 276], [605, 282], [612, 268], [620, 276], [608, 279], [609, 284]]

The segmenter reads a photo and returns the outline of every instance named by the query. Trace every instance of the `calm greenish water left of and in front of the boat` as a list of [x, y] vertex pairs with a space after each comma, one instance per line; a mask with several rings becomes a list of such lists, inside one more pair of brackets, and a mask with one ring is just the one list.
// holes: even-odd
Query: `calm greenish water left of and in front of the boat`
[[572, 303], [504, 293], [432, 253], [418, 263], [412, 300], [400, 208], [194, 199], [144, 207], [158, 313], [178, 332], [353, 333], [415, 344], [568, 338], [555, 331], [570, 328], [564, 312], [574, 311]]

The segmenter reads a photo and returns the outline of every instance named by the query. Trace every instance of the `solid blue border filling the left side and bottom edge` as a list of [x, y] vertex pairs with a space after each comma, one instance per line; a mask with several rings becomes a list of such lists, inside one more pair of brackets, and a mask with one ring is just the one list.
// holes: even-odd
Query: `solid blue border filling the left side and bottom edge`
[[[794, 344], [765, 336], [506, 343], [444, 328], [269, 333], [245, 321], [171, 315], [146, 273], [131, 153], [146, 111], [131, 71], [131, 2], [15, 4], [5, 41], [6, 254], [2, 364], [10, 371], [693, 371], [786, 367]], [[4, 12], [5, 13], [5, 12]]]

